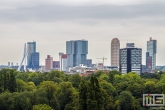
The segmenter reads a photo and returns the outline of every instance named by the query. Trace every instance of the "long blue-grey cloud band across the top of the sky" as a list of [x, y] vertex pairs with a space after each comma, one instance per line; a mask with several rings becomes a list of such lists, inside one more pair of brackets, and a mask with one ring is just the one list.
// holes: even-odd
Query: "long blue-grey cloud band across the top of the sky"
[[40, 4], [0, 10], [4, 21], [55, 21], [71, 19], [123, 19], [165, 16], [164, 4], [64, 6]]

